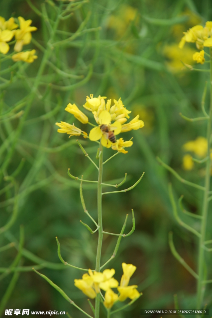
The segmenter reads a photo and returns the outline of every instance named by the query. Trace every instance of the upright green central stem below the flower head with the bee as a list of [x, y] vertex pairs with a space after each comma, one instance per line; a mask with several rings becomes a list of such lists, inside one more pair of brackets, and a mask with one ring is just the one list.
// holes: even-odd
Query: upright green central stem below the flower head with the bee
[[[99, 228], [99, 239], [96, 253], [96, 271], [100, 272], [100, 259], [101, 259], [101, 248], [103, 238], [103, 227], [102, 227], [102, 171], [103, 171], [103, 147], [100, 143], [100, 155], [99, 155], [99, 177], [97, 183], [97, 213], [98, 213], [98, 226]], [[95, 303], [95, 318], [100, 316], [100, 294], [96, 296]]]

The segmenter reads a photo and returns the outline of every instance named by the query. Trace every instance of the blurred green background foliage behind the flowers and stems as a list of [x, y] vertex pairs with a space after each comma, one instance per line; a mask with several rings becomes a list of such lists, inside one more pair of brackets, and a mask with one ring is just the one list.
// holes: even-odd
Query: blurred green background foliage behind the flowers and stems
[[[58, 1], [34, 0], [33, 4], [44, 13], [46, 10], [51, 23], [55, 21], [57, 13], [54, 5], [58, 6]], [[180, 50], [178, 43], [183, 31], [212, 19], [211, 2], [90, 0], [81, 4], [68, 19], [59, 23], [58, 29], [63, 32], [56, 32], [54, 42], [74, 36], [70, 41], [55, 46], [49, 57], [50, 64], [74, 76], [65, 77], [50, 64], [46, 65], [10, 164], [3, 171], [4, 176], [10, 176], [25, 158], [21, 171], [15, 177], [18, 195], [14, 197], [13, 185], [0, 192], [1, 226], [8, 222], [14, 202], [16, 204], [18, 201], [14, 224], [0, 236], [0, 246], [15, 242], [15, 247], [1, 252], [0, 269], [11, 266], [15, 259], [20, 225], [23, 225], [24, 250], [18, 266], [50, 262], [43, 264], [44, 268], [39, 271], [91, 314], [87, 296], [74, 287], [74, 279], [81, 278], [82, 272], [60, 263], [55, 236], [61, 243], [62, 257], [68, 263], [83, 268], [94, 267], [98, 236], [97, 233], [91, 235], [79, 222], [82, 220], [93, 228], [80, 203], [79, 183], [67, 176], [67, 169], [70, 168], [74, 176], [83, 174], [86, 179], [95, 180], [97, 174], [79, 149], [77, 138], [68, 139], [67, 135], [58, 134], [55, 122], [72, 124], [74, 121], [75, 125], [89, 132], [90, 127], [84, 128], [74, 116], [64, 111], [67, 103], [75, 102], [83, 110], [86, 95], [90, 93], [95, 97], [107, 96], [108, 99], [121, 97], [125, 107], [132, 111], [131, 119], [139, 114], [145, 127], [125, 135], [125, 140], [133, 137], [133, 146], [127, 149], [128, 154], [119, 154], [104, 166], [103, 179], [123, 178], [127, 172], [124, 189], [135, 183], [144, 171], [145, 176], [132, 191], [103, 197], [103, 227], [104, 231], [120, 232], [128, 213], [126, 232], [129, 232], [132, 227], [130, 213], [134, 209], [135, 232], [121, 240], [119, 252], [108, 268], [114, 268], [115, 278], [120, 280], [122, 262], [137, 266], [131, 283], [138, 284], [143, 296], [131, 308], [114, 314], [114, 318], [140, 317], [140, 308], [174, 308], [173, 294], [178, 295], [180, 308], [194, 308], [196, 281], [172, 256], [168, 233], [173, 231], [177, 251], [194, 270], [197, 242], [174, 220], [168, 182], [172, 182], [176, 198], [183, 194], [184, 206], [195, 213], [201, 209], [202, 193], [177, 181], [157, 163], [156, 156], [185, 179], [203, 184], [202, 166], [195, 164], [192, 171], [183, 170], [185, 152], [182, 146], [198, 136], [205, 136], [205, 123], [184, 121], [179, 113], [188, 117], [201, 114], [202, 92], [209, 78], [207, 73], [190, 72], [183, 68], [180, 60], [193, 64], [192, 54], [196, 49], [194, 45], [186, 44]], [[24, 68], [22, 66], [25, 64], [20, 64], [13, 70], [11, 84], [0, 85], [3, 114], [30, 93], [43, 56], [39, 45], [46, 48], [49, 32], [46, 20], [37, 15], [26, 1], [1, 0], [0, 15], [6, 19], [21, 15], [32, 19], [32, 25], [38, 28], [32, 34], [34, 40], [24, 47], [35, 48], [38, 59]], [[84, 25], [79, 31], [83, 21]], [[2, 63], [1, 70], [10, 65], [13, 65], [11, 60]], [[10, 74], [4, 75], [4, 78], [10, 79]], [[73, 85], [75, 83], [78, 84]], [[63, 90], [62, 87], [69, 85], [73, 86]], [[206, 109], [208, 102], [207, 95]], [[19, 120], [0, 121], [1, 164], [11, 150]], [[81, 137], [79, 139], [97, 163], [97, 147]], [[114, 153], [111, 149], [104, 150], [105, 159]], [[3, 179], [2, 189], [8, 184], [10, 181]], [[95, 186], [85, 184], [83, 193], [87, 210], [96, 219]], [[181, 217], [199, 230], [198, 219]], [[209, 224], [211, 221], [210, 213]], [[211, 239], [211, 234], [210, 227], [208, 239]], [[114, 237], [104, 236], [102, 264], [111, 257], [115, 244]], [[211, 265], [211, 259], [208, 262]], [[1, 300], [5, 300], [8, 286], [11, 288], [7, 302], [1, 308], [2, 316], [5, 308], [65, 310], [72, 317], [84, 316], [30, 268], [26, 272], [17, 271], [16, 276], [13, 272], [1, 271]], [[208, 276], [211, 274], [210, 266]], [[211, 301], [212, 291], [208, 285], [205, 302], [209, 308], [212, 308]], [[102, 311], [102, 317], [104, 315]]]

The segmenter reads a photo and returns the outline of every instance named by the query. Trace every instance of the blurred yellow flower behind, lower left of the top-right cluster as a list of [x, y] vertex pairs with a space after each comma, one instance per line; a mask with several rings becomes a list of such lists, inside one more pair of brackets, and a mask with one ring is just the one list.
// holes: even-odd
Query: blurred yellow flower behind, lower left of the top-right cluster
[[164, 56], [168, 59], [166, 63], [172, 72], [177, 72], [182, 69], [183, 64], [181, 61], [186, 64], [193, 64], [192, 55], [194, 53], [194, 49], [184, 47], [183, 50], [181, 50], [177, 44], [166, 45], [164, 47]]

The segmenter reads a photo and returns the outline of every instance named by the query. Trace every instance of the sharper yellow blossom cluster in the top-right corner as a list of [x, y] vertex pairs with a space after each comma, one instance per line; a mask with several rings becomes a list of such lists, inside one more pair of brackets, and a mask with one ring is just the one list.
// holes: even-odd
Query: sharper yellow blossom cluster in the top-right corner
[[193, 60], [197, 63], [203, 64], [204, 59], [204, 47], [212, 47], [212, 21], [207, 21], [205, 26], [195, 25], [187, 32], [183, 32], [184, 36], [179, 43], [179, 48], [183, 48], [186, 42], [196, 43], [196, 47], [200, 52], [193, 54]]

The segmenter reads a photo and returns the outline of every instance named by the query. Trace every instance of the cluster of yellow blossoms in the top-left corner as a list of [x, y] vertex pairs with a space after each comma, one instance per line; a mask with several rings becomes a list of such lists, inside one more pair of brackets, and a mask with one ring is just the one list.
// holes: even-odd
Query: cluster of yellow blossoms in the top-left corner
[[[31, 42], [31, 32], [36, 31], [35, 26], [30, 26], [32, 20], [24, 20], [23, 17], [18, 17], [19, 25], [15, 23], [14, 17], [9, 20], [5, 20], [4, 17], [0, 17], [0, 52], [7, 54], [10, 50], [10, 42], [15, 37], [14, 51], [18, 52], [12, 55], [12, 59], [16, 61], [24, 61], [32, 63], [37, 56], [35, 50], [21, 52], [23, 45], [27, 45]], [[18, 29], [19, 27], [19, 29]]]

